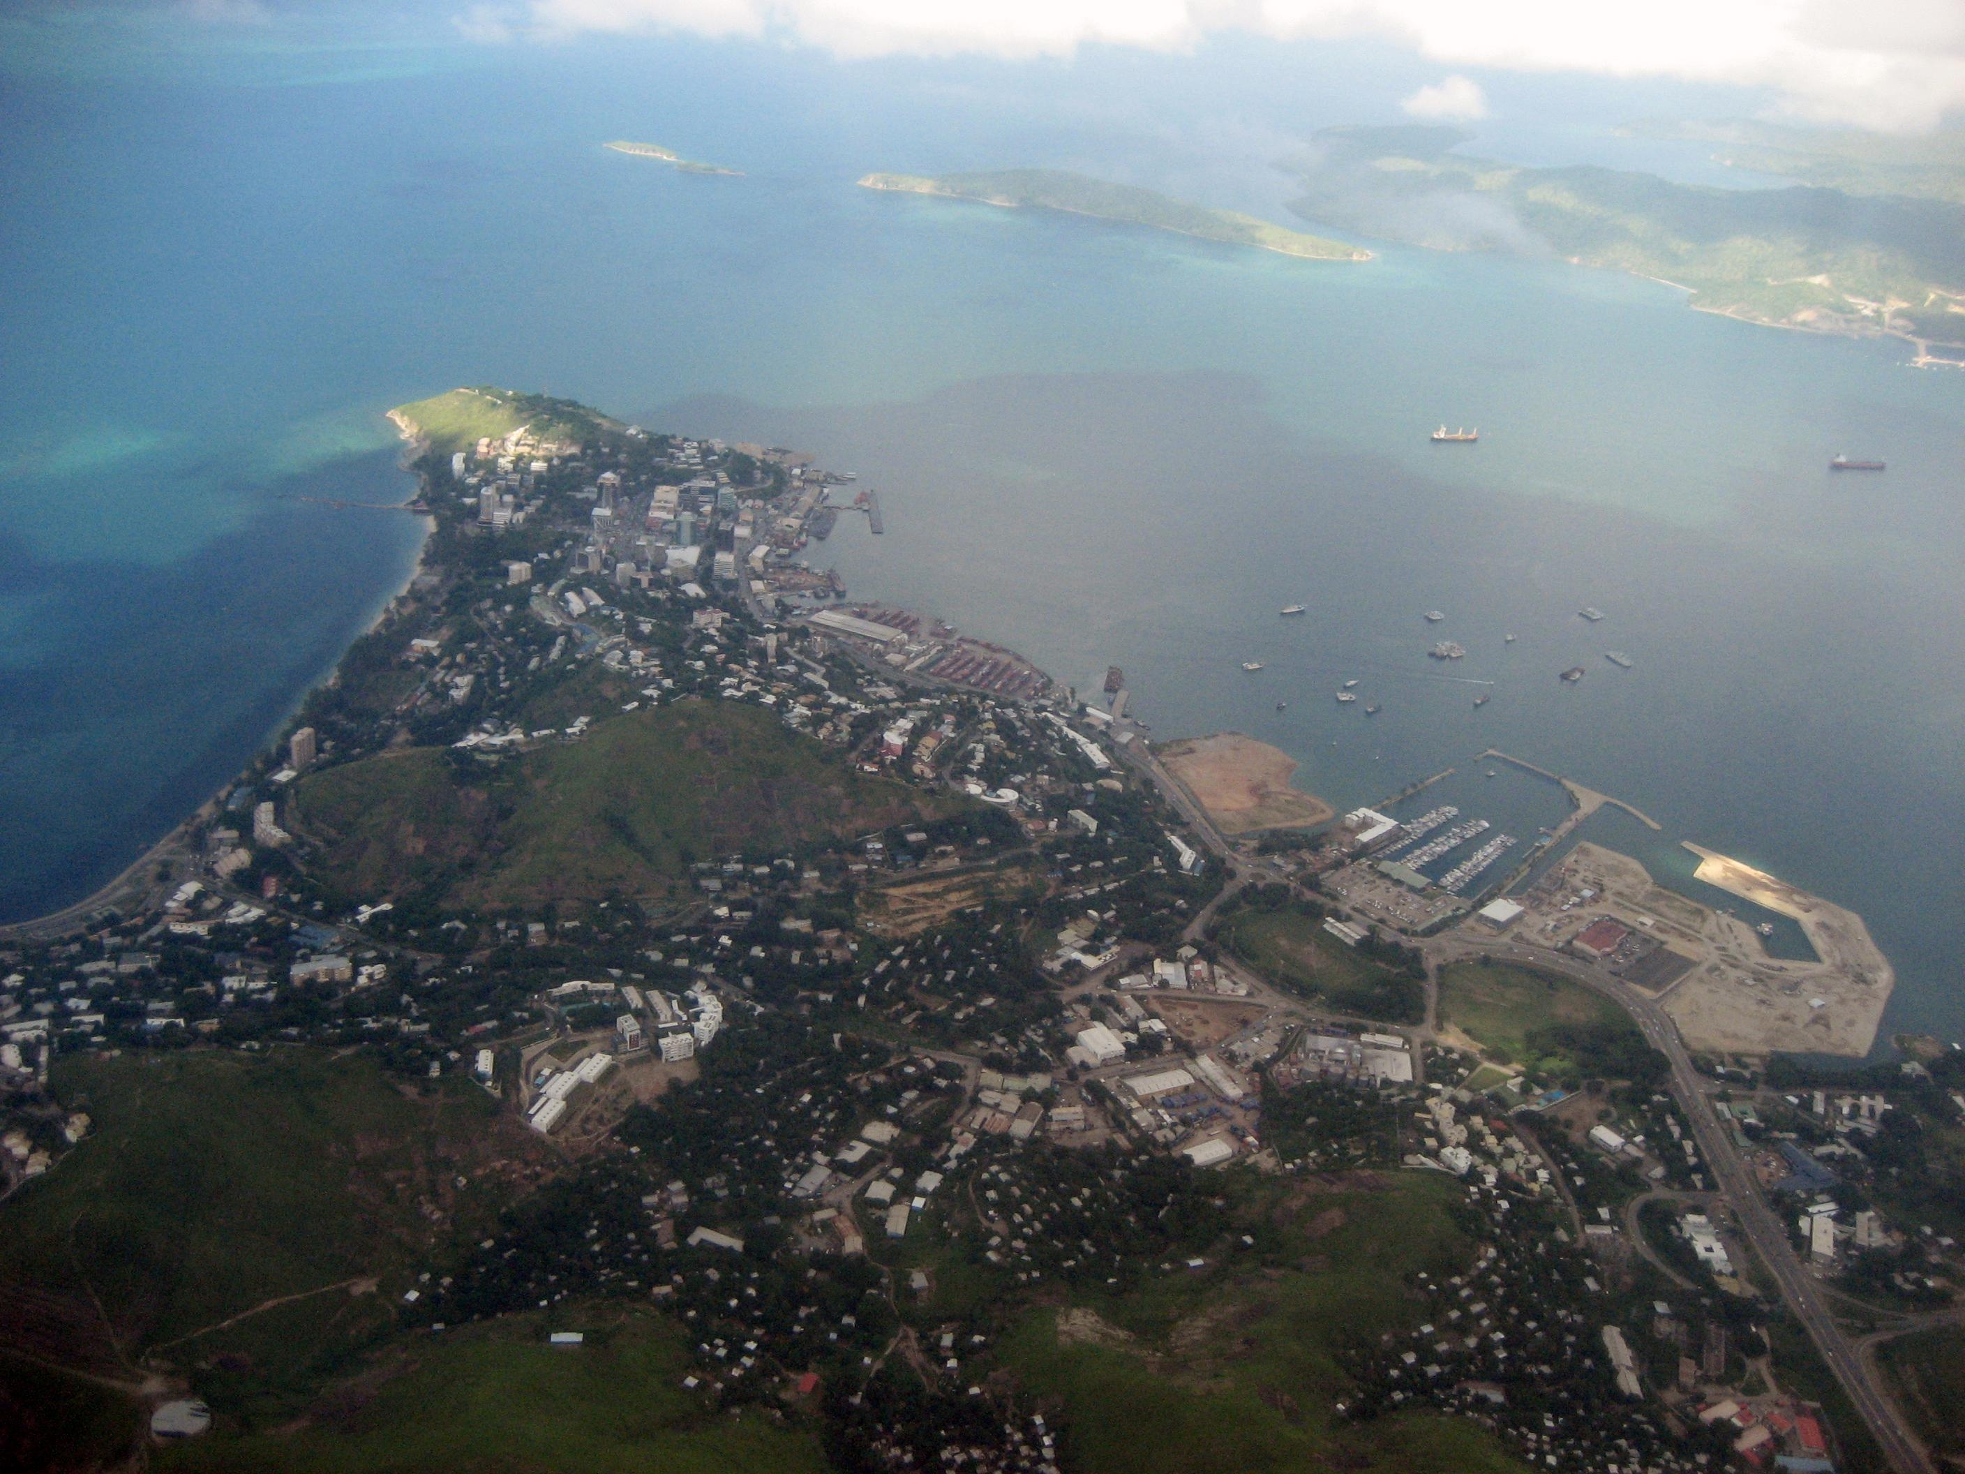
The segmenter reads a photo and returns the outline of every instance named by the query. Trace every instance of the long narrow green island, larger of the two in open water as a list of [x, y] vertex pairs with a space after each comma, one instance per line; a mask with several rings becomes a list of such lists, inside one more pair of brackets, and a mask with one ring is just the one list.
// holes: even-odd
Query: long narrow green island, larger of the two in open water
[[1224, 246], [1254, 246], [1307, 261], [1372, 259], [1372, 252], [1324, 240], [1322, 236], [1307, 236], [1301, 230], [1287, 230], [1285, 226], [1258, 220], [1252, 214], [1210, 210], [1205, 204], [1167, 198], [1136, 185], [1112, 185], [1104, 179], [1091, 179], [1067, 169], [998, 169], [992, 173], [933, 177], [872, 173], [859, 183], [861, 189], [935, 195], [939, 198], [975, 200], [1012, 210], [1038, 208], [1087, 214], [1095, 220], [1171, 230], [1175, 236], [1214, 240]]

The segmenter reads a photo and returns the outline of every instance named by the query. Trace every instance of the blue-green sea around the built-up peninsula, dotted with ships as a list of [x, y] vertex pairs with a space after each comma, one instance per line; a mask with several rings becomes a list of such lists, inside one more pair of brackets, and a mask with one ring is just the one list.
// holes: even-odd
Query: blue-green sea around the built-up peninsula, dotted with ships
[[[888, 533], [825, 548], [857, 592], [1081, 686], [1122, 664], [1155, 731], [1252, 731], [1332, 800], [1489, 743], [1629, 798], [1666, 833], [1598, 837], [1863, 910], [1892, 1026], [1965, 1024], [1965, 379], [1560, 263], [872, 195], [1036, 159], [1285, 191], [1262, 143], [1208, 169], [1089, 104], [607, 57], [0, 92], [0, 914], [84, 892], [265, 737], [415, 556], [407, 517], [295, 497], [405, 495], [379, 411], [501, 381], [859, 470]], [[1480, 446], [1427, 444], [1440, 419]], [[1523, 839], [1560, 812], [1470, 802]]]

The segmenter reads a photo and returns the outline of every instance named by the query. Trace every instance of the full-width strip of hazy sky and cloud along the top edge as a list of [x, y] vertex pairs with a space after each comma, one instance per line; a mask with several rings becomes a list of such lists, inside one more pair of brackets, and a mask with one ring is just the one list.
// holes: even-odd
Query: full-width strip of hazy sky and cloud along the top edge
[[1417, 118], [1488, 116], [1525, 77], [1741, 88], [1774, 116], [1892, 132], [1965, 114], [1965, 0], [0, 0], [0, 71], [104, 37], [277, 55], [607, 35], [1008, 61], [1368, 41], [1432, 71], [1407, 86]]

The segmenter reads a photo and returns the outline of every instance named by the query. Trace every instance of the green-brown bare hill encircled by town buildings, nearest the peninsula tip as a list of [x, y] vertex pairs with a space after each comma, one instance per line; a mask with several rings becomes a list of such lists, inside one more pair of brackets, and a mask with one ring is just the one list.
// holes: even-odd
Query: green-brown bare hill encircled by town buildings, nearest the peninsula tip
[[867, 778], [770, 713], [678, 702], [597, 723], [495, 772], [442, 749], [328, 768], [295, 796], [316, 877], [350, 898], [474, 906], [662, 900], [694, 861], [931, 818], [945, 800]]

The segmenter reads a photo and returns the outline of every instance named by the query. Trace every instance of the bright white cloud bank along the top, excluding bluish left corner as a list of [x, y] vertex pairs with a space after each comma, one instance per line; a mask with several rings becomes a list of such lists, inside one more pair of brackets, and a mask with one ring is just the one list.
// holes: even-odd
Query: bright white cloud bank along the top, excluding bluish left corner
[[[1824, 122], [1924, 130], [1965, 110], [1959, 0], [507, 0], [523, 33], [776, 37], [843, 57], [1179, 51], [1208, 33], [1377, 37], [1444, 67], [1768, 88]], [[1857, 20], [1857, 14], [1861, 16]], [[1446, 86], [1450, 86], [1448, 83]], [[1425, 88], [1431, 92], [1432, 88]], [[1419, 102], [1419, 98], [1413, 98]]]

